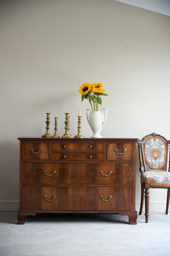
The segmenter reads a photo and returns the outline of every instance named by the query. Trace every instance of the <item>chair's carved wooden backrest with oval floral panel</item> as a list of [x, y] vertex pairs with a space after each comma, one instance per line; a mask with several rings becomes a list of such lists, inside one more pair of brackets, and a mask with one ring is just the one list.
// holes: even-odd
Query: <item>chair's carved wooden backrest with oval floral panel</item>
[[[137, 140], [139, 148], [140, 171], [167, 171], [169, 141], [152, 133]], [[143, 166], [144, 165], [144, 166]]]

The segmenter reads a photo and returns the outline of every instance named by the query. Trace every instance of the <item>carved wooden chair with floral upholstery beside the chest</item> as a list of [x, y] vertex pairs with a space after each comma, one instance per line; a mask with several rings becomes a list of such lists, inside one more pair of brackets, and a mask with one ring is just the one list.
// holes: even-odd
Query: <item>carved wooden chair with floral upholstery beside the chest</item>
[[[139, 215], [142, 213], [144, 189], [145, 189], [145, 221], [149, 218], [149, 189], [167, 188], [166, 214], [170, 201], [170, 160], [168, 167], [168, 150], [170, 141], [163, 136], [152, 133], [142, 140], [137, 140], [139, 149], [139, 161], [141, 172], [141, 207]], [[167, 171], [168, 169], [168, 171]]]

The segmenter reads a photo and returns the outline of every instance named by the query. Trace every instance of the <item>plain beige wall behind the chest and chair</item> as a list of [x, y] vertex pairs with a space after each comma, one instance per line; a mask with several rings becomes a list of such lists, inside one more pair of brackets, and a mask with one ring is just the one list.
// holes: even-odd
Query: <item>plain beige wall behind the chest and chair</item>
[[[108, 118], [102, 135], [170, 139], [170, 17], [114, 0], [3, 1], [0, 7], [0, 209], [18, 210], [19, 141], [51, 129], [91, 136], [78, 93], [102, 82]], [[136, 210], [140, 202], [136, 158]], [[151, 190], [150, 210], [165, 211], [166, 190]]]

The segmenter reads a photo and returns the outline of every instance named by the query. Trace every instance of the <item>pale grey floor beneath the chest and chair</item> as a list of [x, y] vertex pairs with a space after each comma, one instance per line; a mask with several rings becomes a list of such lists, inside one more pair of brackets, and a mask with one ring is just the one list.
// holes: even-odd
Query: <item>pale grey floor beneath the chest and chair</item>
[[0, 212], [0, 256], [170, 256], [170, 213], [138, 215], [137, 225], [117, 214], [39, 214], [17, 225]]

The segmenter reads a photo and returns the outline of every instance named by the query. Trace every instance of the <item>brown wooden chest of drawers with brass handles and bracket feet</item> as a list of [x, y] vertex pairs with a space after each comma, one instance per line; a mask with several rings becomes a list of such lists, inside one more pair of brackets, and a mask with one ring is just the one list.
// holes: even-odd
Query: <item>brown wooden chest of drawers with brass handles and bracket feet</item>
[[136, 139], [18, 139], [18, 224], [36, 213], [119, 213], [136, 224]]

